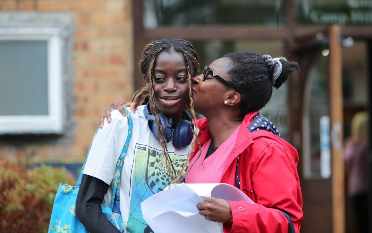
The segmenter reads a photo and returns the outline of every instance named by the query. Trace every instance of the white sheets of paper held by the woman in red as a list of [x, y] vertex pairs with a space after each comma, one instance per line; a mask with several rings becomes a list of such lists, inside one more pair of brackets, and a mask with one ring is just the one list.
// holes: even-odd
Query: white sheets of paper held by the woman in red
[[141, 203], [142, 215], [155, 233], [218, 233], [222, 223], [206, 220], [196, 205], [200, 196], [254, 204], [239, 189], [228, 184], [179, 184], [155, 193]]

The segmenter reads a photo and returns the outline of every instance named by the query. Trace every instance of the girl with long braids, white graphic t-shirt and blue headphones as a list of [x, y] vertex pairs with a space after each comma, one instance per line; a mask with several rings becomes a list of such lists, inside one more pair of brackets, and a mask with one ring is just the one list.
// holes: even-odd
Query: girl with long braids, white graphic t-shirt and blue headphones
[[[199, 61], [192, 44], [182, 39], [153, 41], [145, 46], [140, 66], [146, 86], [134, 97], [141, 106], [129, 113], [132, 137], [120, 174], [119, 205], [113, 210], [130, 233], [152, 232], [142, 217], [141, 202], [166, 188], [177, 174], [185, 174], [190, 143], [198, 141], [192, 140], [197, 135], [191, 90]], [[128, 121], [113, 110], [110, 122], [93, 138], [77, 196], [76, 215], [91, 233], [120, 232], [103, 214], [101, 204], [110, 203], [110, 184]]]

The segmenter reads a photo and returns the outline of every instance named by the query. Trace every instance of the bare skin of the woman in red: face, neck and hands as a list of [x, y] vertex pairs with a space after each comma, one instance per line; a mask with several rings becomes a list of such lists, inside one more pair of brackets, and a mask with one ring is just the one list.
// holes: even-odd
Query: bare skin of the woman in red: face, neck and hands
[[[212, 62], [209, 67], [219, 76], [230, 81], [230, 75], [227, 74], [230, 66], [230, 59], [223, 57]], [[202, 78], [203, 75], [193, 78], [194, 104], [198, 112], [208, 119], [211, 138], [215, 147], [219, 147], [243, 120], [239, 116], [241, 96], [234, 89], [225, 86], [211, 75], [205, 81], [202, 81]], [[227, 101], [227, 104], [224, 103], [225, 101]], [[111, 107], [117, 107], [119, 110], [122, 108], [121, 104], [131, 107], [132, 111], [137, 108], [137, 104], [132, 102], [113, 102]], [[106, 117], [110, 115], [108, 109], [111, 107], [106, 108]], [[103, 117], [101, 116], [101, 118]], [[103, 120], [100, 122], [103, 124]], [[230, 204], [226, 200], [206, 196], [201, 196], [201, 198], [204, 202], [196, 205], [196, 208], [206, 220], [218, 223], [228, 223], [232, 220]]]

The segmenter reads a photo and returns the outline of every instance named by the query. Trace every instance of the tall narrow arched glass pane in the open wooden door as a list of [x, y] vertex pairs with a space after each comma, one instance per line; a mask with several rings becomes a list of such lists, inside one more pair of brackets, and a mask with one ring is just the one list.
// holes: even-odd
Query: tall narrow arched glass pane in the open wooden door
[[[328, 178], [330, 174], [327, 72], [328, 59], [326, 56], [318, 54], [317, 59], [311, 64], [306, 79], [302, 106], [302, 154], [304, 156], [304, 177], [306, 178]], [[322, 145], [321, 139], [323, 140]]]

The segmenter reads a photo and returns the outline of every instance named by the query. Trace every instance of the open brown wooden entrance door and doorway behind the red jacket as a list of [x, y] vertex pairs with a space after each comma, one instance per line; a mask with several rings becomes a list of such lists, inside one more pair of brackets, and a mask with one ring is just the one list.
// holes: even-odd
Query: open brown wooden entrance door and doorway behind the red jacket
[[[338, 30], [331, 26], [297, 38], [292, 50], [301, 68], [292, 77], [289, 98], [292, 141], [300, 154], [305, 233], [368, 232], [358, 231], [362, 226], [348, 192], [350, 171], [344, 166], [343, 148], [353, 117], [368, 111], [371, 103], [371, 42], [343, 38]], [[371, 164], [366, 166], [371, 170]]]

